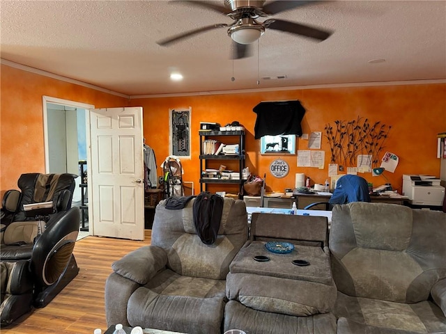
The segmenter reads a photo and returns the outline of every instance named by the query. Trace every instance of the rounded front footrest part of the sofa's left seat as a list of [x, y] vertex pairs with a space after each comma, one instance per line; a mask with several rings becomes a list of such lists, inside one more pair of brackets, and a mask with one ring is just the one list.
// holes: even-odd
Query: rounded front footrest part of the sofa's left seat
[[224, 297], [197, 298], [157, 294], [139, 287], [128, 300], [130, 326], [180, 333], [220, 334]]

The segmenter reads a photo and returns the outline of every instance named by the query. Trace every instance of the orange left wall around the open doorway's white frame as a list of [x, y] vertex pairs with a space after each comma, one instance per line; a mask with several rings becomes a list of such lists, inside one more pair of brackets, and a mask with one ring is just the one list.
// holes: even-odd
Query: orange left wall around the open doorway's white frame
[[17, 189], [22, 173], [45, 173], [43, 95], [96, 108], [128, 104], [123, 97], [1, 65], [1, 196]]

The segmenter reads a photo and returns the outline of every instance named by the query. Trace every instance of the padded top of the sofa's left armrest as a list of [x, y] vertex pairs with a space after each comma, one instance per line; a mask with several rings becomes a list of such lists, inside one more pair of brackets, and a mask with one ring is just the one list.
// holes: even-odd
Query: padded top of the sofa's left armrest
[[167, 253], [164, 249], [158, 246], [144, 246], [115, 261], [112, 269], [118, 275], [145, 285], [166, 265]]

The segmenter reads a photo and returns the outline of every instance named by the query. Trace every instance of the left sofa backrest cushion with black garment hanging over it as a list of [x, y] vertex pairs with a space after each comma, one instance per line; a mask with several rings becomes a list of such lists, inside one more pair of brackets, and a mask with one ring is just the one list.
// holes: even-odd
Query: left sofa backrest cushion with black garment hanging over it
[[224, 198], [217, 239], [206, 245], [195, 231], [194, 200], [183, 209], [166, 209], [166, 200], [157, 205], [151, 244], [166, 250], [168, 267], [180, 275], [224, 280], [233, 257], [247, 241], [245, 202]]

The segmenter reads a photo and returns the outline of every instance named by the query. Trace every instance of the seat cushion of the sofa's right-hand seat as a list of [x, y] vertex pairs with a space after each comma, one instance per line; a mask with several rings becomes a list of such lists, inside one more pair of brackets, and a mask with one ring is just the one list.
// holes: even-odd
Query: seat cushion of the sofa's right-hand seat
[[[367, 325], [364, 328], [376, 327], [374, 331], [369, 329], [352, 333], [399, 333], [391, 330], [403, 331], [401, 333], [446, 333], [446, 317], [440, 308], [431, 301], [420, 301], [413, 304], [395, 303], [347, 296], [338, 292], [334, 315]], [[383, 331], [378, 331], [379, 328], [382, 328]], [[389, 331], [384, 331], [386, 328]]]

